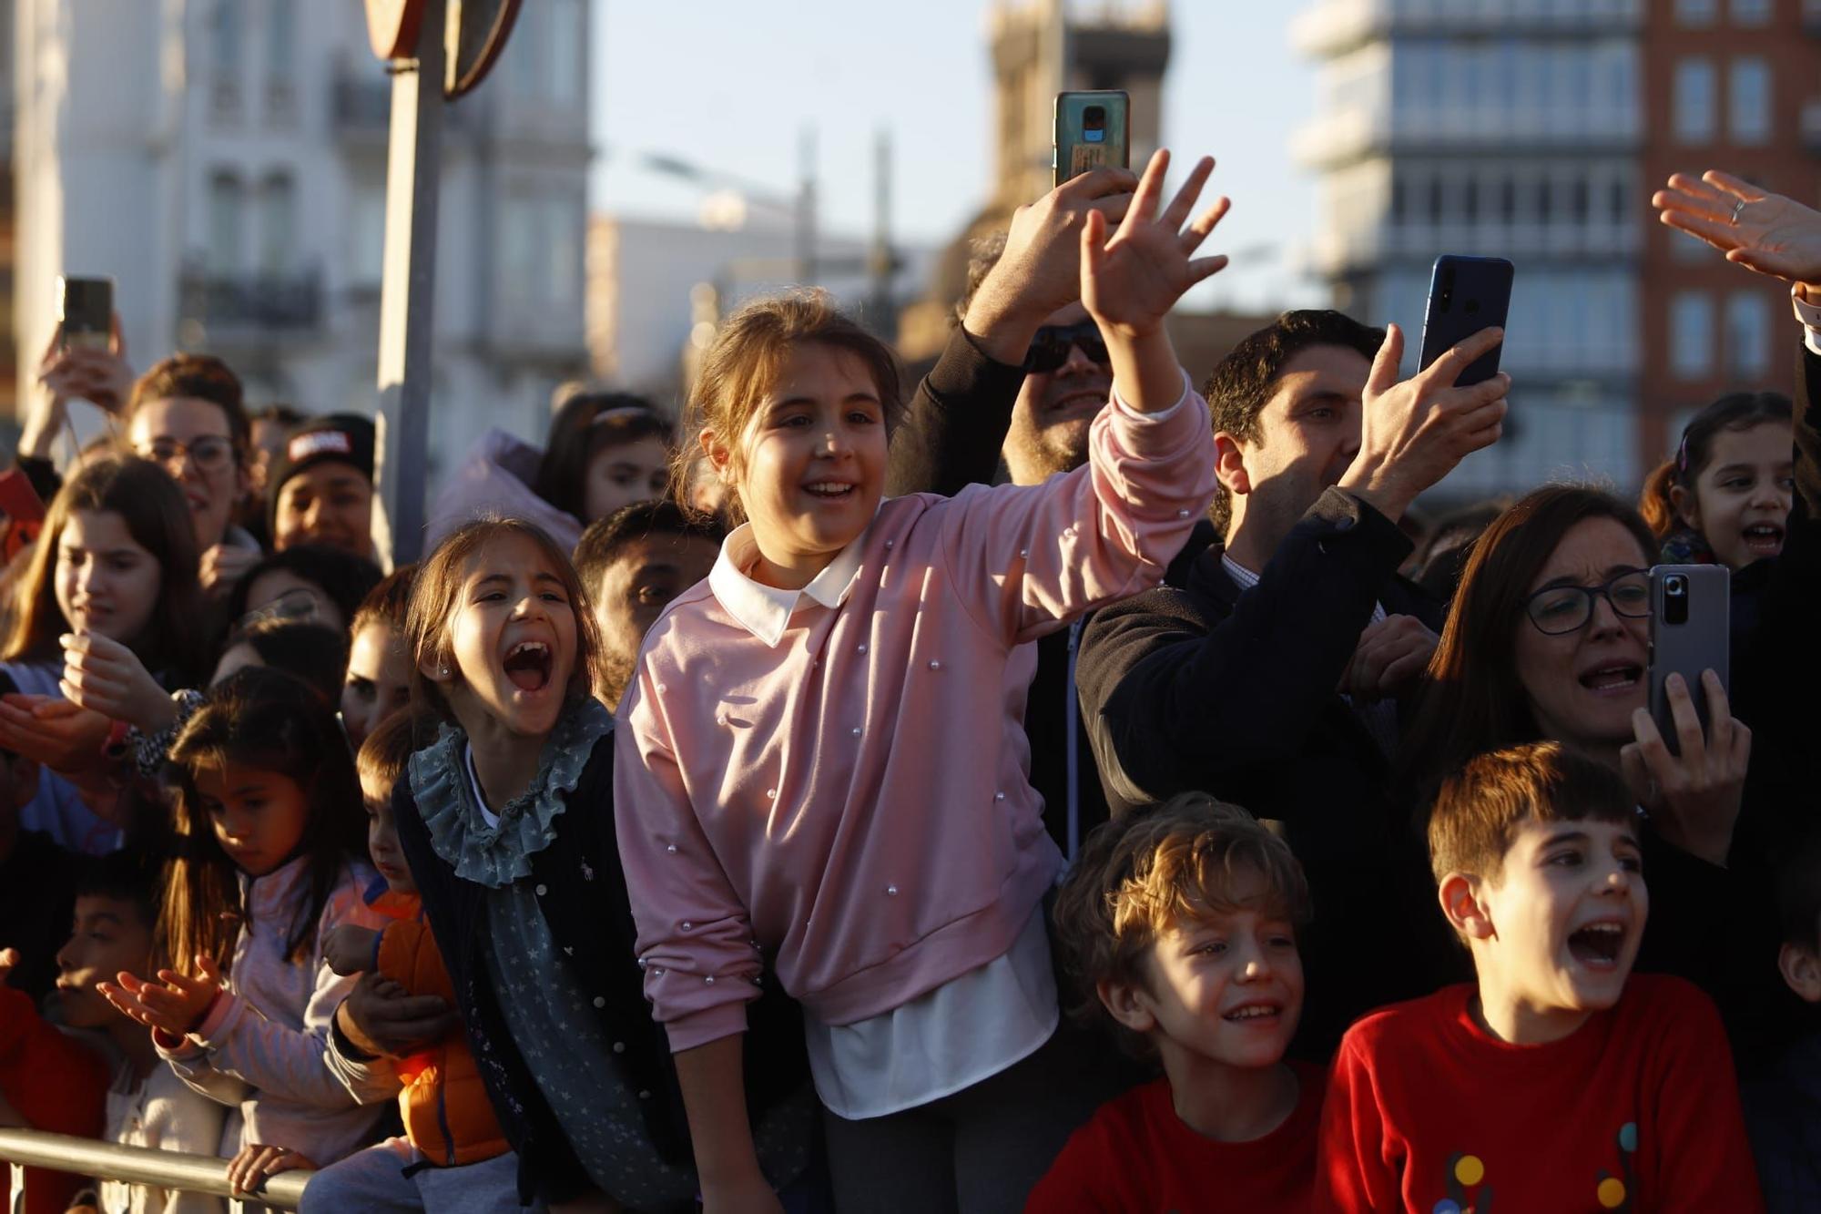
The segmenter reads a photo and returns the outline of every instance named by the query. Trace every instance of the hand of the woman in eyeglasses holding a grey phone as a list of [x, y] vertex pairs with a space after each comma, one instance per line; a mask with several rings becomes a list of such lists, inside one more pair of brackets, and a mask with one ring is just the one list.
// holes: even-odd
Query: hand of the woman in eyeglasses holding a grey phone
[[1752, 758], [1752, 731], [1735, 720], [1726, 689], [1714, 671], [1703, 671], [1708, 731], [1701, 733], [1701, 715], [1681, 674], [1664, 684], [1670, 715], [1675, 718], [1675, 746], [1670, 747], [1646, 709], [1632, 713], [1637, 742], [1619, 751], [1619, 766], [1639, 804], [1650, 809], [1657, 833], [1708, 864], [1726, 866], [1732, 831], [1745, 798], [1745, 767]]

